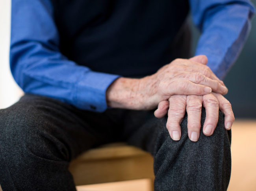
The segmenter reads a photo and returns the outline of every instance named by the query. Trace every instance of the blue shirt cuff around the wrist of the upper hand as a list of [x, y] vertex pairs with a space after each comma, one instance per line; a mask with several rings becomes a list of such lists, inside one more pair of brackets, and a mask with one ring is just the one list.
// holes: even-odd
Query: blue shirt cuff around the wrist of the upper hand
[[106, 90], [119, 77], [119, 75], [101, 72], [87, 72], [76, 83], [73, 97], [74, 106], [79, 109], [104, 112], [107, 109]]

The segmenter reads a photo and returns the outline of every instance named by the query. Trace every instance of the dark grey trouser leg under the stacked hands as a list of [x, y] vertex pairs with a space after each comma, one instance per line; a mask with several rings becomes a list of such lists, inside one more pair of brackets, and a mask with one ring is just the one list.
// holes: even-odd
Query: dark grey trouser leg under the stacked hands
[[[202, 125], [205, 116], [203, 108]], [[154, 156], [155, 191], [226, 190], [231, 171], [231, 131], [224, 129], [223, 113], [219, 112], [219, 122], [212, 136], [203, 135], [201, 127], [198, 142], [188, 138], [187, 114], [181, 123], [179, 141], [171, 139], [166, 122], [167, 117], [157, 119], [152, 111], [130, 111], [123, 132], [129, 144]]]

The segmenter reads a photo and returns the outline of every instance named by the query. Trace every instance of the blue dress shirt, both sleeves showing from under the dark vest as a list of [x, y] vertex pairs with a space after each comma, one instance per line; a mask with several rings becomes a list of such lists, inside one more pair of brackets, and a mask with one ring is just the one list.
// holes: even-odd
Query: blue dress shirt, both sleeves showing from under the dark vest
[[[249, 0], [189, 0], [193, 22], [202, 31], [196, 55], [206, 55], [219, 77], [235, 62], [250, 30]], [[50, 0], [12, 0], [10, 66], [26, 93], [49, 96], [80, 109], [107, 109], [106, 89], [119, 75], [92, 71], [59, 50]]]

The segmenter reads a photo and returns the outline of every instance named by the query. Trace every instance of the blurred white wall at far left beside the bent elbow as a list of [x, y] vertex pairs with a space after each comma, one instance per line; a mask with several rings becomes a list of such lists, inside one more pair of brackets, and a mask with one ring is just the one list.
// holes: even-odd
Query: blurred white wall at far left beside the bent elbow
[[0, 0], [0, 109], [11, 106], [23, 94], [9, 68], [11, 0]]

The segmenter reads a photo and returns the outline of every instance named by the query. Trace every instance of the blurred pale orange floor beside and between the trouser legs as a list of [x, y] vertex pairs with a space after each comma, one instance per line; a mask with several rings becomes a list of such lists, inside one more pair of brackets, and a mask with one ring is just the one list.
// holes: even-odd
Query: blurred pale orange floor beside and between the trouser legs
[[[232, 126], [232, 173], [228, 191], [256, 191], [256, 120]], [[151, 191], [150, 180], [131, 180], [77, 187], [78, 191]], [[207, 190], [207, 189], [206, 189]]]

